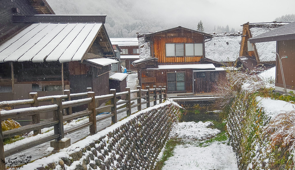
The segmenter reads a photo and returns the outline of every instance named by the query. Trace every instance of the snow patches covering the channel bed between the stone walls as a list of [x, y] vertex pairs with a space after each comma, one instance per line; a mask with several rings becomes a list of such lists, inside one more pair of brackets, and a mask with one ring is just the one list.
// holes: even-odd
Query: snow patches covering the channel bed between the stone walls
[[207, 128], [212, 122], [181, 122], [171, 130], [171, 137], [182, 138], [183, 144], [174, 148], [173, 156], [164, 162], [162, 170], [238, 170], [231, 146], [213, 142], [200, 147], [199, 143], [220, 133]]

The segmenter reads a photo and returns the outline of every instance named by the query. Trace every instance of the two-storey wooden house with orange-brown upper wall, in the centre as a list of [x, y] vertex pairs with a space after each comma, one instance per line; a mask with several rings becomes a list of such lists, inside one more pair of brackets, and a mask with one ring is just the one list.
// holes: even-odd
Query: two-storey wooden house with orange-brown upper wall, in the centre
[[142, 88], [167, 86], [167, 93], [212, 92], [212, 85], [225, 80], [222, 64], [205, 60], [205, 43], [213, 35], [176, 27], [153, 33], [139, 33], [138, 69]]

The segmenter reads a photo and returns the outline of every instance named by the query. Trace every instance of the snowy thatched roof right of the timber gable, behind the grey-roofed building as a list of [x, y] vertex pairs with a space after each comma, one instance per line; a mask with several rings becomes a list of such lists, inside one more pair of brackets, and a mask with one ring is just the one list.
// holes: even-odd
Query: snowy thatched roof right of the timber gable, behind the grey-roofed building
[[[249, 30], [251, 33], [251, 37], [255, 37], [257, 35], [268, 32], [285, 24], [287, 23], [285, 22], [249, 24]], [[273, 51], [276, 51], [276, 42], [259, 42], [254, 44], [259, 56], [259, 60], [261, 62], [276, 61], [276, 54], [271, 53]]]

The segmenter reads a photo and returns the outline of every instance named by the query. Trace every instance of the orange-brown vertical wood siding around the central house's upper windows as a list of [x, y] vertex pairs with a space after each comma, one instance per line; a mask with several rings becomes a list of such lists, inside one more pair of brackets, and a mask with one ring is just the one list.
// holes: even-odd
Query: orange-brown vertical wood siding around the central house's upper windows
[[204, 43], [204, 37], [161, 37], [158, 35], [153, 37], [153, 55], [159, 59], [159, 63], [199, 62], [203, 58], [203, 56], [166, 57], [166, 43]]

